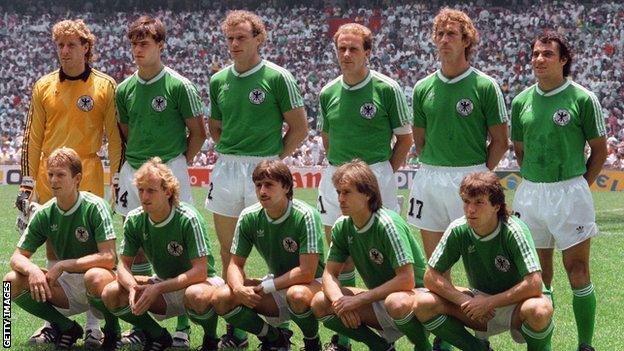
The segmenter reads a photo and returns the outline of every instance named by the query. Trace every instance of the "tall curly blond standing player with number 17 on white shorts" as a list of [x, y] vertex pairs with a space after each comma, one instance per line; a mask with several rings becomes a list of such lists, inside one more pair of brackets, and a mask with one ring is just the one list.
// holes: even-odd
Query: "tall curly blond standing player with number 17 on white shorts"
[[427, 257], [448, 225], [463, 215], [461, 180], [494, 169], [508, 147], [501, 90], [470, 65], [479, 42], [472, 20], [462, 11], [443, 8], [433, 20], [431, 36], [440, 69], [414, 86], [413, 134], [421, 167], [407, 213], [408, 222], [420, 229]]

